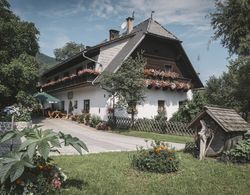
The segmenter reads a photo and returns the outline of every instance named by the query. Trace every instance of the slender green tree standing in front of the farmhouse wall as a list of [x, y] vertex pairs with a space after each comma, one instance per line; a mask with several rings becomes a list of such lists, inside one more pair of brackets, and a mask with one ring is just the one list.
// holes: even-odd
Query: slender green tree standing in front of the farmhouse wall
[[144, 65], [143, 52], [135, 58], [129, 57], [116, 73], [106, 73], [102, 77], [101, 86], [119, 99], [119, 104], [131, 113], [132, 124], [136, 113], [136, 105], [144, 101]]

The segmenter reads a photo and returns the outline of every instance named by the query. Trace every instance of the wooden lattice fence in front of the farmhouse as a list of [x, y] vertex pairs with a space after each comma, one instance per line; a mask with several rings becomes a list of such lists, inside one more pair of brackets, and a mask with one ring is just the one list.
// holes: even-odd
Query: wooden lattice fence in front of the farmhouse
[[[132, 120], [127, 117], [109, 117], [108, 123], [113, 128], [118, 129], [129, 129], [132, 127]], [[186, 123], [145, 118], [135, 119], [133, 130], [171, 135], [194, 135], [194, 130], [188, 128]]]

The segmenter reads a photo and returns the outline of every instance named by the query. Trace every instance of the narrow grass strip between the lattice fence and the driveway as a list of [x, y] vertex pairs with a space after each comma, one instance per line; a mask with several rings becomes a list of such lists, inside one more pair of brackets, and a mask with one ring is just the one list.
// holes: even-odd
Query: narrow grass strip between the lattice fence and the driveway
[[128, 131], [128, 130], [114, 130], [113, 133], [119, 133], [122, 135], [142, 137], [145, 139], [153, 139], [159, 141], [168, 141], [168, 142], [176, 142], [176, 143], [186, 143], [194, 141], [194, 138], [191, 136], [178, 136], [178, 135], [167, 135], [167, 134], [159, 134], [153, 132], [145, 132], [145, 131]]

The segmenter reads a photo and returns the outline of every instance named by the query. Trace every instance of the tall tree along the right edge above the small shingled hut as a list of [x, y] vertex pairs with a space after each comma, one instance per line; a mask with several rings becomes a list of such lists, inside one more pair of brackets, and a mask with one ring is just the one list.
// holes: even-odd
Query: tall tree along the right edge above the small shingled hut
[[238, 58], [231, 61], [228, 71], [219, 78], [207, 82], [208, 102], [232, 107], [247, 118], [250, 112], [250, 1], [216, 1], [216, 10], [211, 14], [214, 39]]

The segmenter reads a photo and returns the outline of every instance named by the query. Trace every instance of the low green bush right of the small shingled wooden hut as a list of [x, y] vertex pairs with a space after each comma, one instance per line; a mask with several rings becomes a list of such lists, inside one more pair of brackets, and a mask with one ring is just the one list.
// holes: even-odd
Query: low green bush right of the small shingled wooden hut
[[221, 160], [232, 163], [250, 162], [250, 139], [239, 141], [234, 148], [223, 152]]

